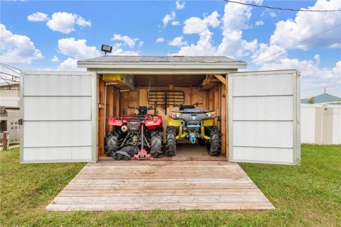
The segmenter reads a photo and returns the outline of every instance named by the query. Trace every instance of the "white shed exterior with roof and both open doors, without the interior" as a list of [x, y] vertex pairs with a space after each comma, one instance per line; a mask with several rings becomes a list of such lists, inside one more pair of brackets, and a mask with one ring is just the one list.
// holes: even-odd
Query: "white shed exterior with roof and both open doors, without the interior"
[[227, 160], [301, 162], [296, 70], [237, 72], [246, 63], [228, 57], [104, 56], [78, 65], [87, 72], [22, 73], [21, 162], [97, 162], [104, 74], [159, 76], [166, 82], [180, 77], [178, 83], [190, 75], [218, 74], [226, 99], [220, 111], [227, 119], [222, 121]]

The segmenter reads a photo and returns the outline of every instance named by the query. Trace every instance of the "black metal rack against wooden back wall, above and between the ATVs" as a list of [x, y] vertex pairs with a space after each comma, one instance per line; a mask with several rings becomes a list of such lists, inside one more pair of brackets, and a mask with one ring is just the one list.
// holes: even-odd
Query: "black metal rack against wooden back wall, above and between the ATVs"
[[150, 90], [148, 91], [148, 105], [174, 106], [185, 103], [185, 92], [181, 90]]

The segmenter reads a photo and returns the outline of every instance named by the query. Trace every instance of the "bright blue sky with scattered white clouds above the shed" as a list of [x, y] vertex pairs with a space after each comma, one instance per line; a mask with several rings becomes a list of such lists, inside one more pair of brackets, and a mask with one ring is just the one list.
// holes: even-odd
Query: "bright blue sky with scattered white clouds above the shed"
[[[341, 9], [340, 0], [246, 2]], [[105, 43], [120, 55], [225, 55], [251, 63], [247, 70], [297, 68], [302, 97], [323, 87], [341, 96], [340, 12], [224, 1], [1, 1], [0, 22], [0, 62], [23, 70], [77, 70], [77, 60], [102, 55]]]

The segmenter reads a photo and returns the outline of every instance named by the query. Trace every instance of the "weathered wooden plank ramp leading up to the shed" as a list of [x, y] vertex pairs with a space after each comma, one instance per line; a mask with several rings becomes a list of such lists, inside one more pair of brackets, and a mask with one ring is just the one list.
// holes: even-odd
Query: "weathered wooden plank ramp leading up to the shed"
[[237, 163], [113, 161], [88, 164], [48, 211], [274, 209]]

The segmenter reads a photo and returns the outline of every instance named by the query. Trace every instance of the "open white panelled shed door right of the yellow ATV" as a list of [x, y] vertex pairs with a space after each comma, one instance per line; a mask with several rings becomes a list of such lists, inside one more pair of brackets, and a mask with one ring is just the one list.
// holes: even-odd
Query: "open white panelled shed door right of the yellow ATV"
[[229, 74], [229, 160], [300, 164], [296, 70]]

